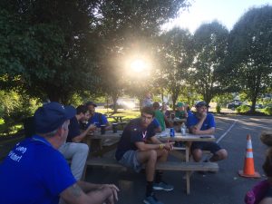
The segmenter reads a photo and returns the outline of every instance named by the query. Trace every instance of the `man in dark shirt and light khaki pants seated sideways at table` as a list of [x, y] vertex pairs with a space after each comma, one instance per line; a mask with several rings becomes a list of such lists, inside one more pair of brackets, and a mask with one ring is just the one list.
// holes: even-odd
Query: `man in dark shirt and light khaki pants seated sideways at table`
[[69, 133], [65, 143], [59, 148], [59, 151], [63, 154], [66, 160], [71, 160], [71, 170], [75, 180], [81, 180], [83, 176], [83, 170], [89, 154], [89, 147], [85, 143], [79, 143], [83, 141], [84, 137], [89, 131], [94, 131], [96, 127], [90, 125], [86, 130], [81, 132], [80, 121], [86, 120], [87, 107], [80, 105], [76, 108], [76, 115], [70, 120]]

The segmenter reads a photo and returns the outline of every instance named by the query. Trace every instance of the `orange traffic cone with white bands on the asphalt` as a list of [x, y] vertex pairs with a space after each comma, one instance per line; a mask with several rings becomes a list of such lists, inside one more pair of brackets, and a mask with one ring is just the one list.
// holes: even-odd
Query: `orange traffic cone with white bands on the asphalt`
[[244, 170], [239, 170], [238, 174], [241, 177], [250, 177], [250, 178], [260, 178], [260, 175], [257, 171], [254, 169], [254, 160], [253, 160], [253, 150], [252, 150], [252, 143], [251, 143], [251, 137], [248, 134], [247, 136], [247, 152], [246, 152], [246, 158], [244, 162]]

